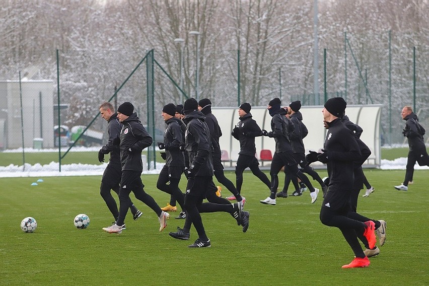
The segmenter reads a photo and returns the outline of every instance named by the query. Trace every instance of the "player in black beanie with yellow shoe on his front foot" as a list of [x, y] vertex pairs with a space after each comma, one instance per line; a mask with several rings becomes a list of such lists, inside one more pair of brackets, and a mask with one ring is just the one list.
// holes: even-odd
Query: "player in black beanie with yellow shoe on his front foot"
[[[175, 114], [176, 106], [173, 103], [165, 105], [162, 109], [161, 115], [167, 124], [167, 128], [164, 132], [164, 142], [158, 142], [158, 147], [160, 150], [165, 149], [163, 155], [165, 165], [158, 177], [157, 188], [174, 197], [183, 209], [185, 195], [179, 189], [179, 182], [185, 168], [185, 157], [182, 151], [185, 138], [181, 129], [182, 121], [177, 119]], [[167, 184], [168, 182], [170, 183]], [[176, 204], [174, 203], [175, 206]], [[173, 207], [173, 205], [170, 205], [170, 207]], [[162, 210], [166, 209], [162, 208]]]

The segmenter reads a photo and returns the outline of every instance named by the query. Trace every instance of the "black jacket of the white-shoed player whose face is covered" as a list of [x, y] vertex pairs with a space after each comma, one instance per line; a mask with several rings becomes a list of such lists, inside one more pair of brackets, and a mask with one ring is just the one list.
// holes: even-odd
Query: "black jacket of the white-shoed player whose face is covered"
[[289, 134], [294, 131], [294, 123], [286, 118], [287, 111], [280, 108], [271, 119], [271, 130], [267, 136], [275, 140], [275, 153], [292, 151]]

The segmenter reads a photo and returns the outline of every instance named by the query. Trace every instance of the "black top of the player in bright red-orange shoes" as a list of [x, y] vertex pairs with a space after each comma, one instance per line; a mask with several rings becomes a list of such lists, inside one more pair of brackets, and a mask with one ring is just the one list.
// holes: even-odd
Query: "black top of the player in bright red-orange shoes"
[[362, 154], [353, 132], [345, 127], [340, 118], [327, 122], [323, 149], [329, 154], [329, 186], [351, 191], [354, 184], [353, 163], [362, 160]]

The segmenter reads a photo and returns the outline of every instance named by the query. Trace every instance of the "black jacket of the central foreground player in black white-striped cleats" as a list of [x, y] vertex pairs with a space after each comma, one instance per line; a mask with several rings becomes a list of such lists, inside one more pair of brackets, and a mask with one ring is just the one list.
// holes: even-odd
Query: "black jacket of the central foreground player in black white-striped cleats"
[[185, 115], [185, 149], [189, 155], [189, 168], [196, 170], [195, 176], [213, 176], [210, 131], [199, 111]]

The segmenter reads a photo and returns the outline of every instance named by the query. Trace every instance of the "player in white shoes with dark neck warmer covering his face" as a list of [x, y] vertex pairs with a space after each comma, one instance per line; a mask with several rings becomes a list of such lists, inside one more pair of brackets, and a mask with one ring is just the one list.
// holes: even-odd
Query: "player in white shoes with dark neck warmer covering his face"
[[268, 103], [268, 112], [272, 117], [271, 130], [267, 132], [262, 130], [262, 135], [273, 137], [275, 140], [275, 152], [272, 157], [270, 175], [271, 175], [271, 192], [269, 197], [261, 200], [261, 203], [275, 205], [275, 194], [278, 187], [278, 172], [284, 166], [293, 176], [297, 176], [304, 182], [310, 190], [311, 203], [317, 199], [319, 189], [314, 188], [306, 175], [299, 169], [298, 164], [292, 155], [292, 145], [290, 141], [290, 133], [293, 132], [294, 124], [286, 118], [287, 111], [280, 107], [281, 101], [274, 98]]

